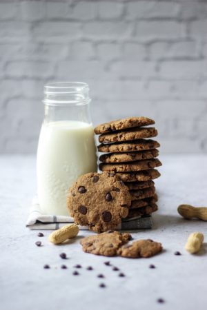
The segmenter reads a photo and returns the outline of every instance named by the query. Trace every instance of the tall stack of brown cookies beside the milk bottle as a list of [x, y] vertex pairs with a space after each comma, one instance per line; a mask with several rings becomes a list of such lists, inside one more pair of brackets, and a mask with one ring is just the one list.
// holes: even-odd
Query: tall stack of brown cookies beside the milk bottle
[[131, 205], [128, 218], [147, 216], [157, 211], [157, 194], [153, 179], [160, 176], [156, 167], [159, 143], [155, 124], [150, 118], [130, 117], [95, 127], [99, 134], [99, 169], [119, 176], [130, 190]]

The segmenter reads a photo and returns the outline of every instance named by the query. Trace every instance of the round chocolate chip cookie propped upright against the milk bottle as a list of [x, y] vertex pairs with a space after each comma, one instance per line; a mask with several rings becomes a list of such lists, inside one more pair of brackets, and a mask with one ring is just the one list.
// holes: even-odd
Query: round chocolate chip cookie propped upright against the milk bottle
[[84, 174], [70, 188], [67, 206], [76, 224], [100, 233], [115, 229], [128, 216], [130, 193], [115, 174]]

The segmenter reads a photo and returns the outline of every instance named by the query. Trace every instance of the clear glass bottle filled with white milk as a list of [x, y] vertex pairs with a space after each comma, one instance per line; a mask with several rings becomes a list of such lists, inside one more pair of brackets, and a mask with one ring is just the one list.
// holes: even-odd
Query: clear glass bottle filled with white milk
[[37, 149], [37, 195], [43, 214], [68, 216], [68, 188], [81, 174], [97, 172], [86, 83], [44, 88], [45, 117]]

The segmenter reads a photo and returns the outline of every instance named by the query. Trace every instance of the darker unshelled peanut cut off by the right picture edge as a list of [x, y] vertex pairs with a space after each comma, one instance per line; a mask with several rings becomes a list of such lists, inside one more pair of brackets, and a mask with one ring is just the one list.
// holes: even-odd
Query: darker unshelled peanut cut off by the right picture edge
[[193, 207], [192, 205], [179, 205], [178, 213], [184, 218], [199, 218], [207, 220], [207, 207]]

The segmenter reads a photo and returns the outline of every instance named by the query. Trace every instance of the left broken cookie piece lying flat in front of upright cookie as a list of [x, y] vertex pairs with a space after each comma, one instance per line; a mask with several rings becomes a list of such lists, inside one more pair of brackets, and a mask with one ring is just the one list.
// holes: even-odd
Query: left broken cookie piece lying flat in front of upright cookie
[[130, 234], [118, 231], [107, 231], [99, 235], [92, 235], [81, 239], [83, 251], [96, 255], [117, 256], [119, 247], [131, 240]]

